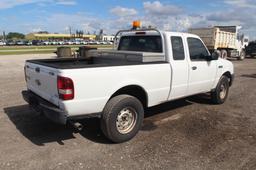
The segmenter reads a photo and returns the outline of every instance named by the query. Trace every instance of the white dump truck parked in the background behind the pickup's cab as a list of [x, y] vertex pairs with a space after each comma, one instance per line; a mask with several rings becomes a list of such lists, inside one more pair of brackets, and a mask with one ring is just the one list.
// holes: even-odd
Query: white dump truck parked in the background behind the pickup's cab
[[240, 26], [214, 26], [210, 28], [191, 28], [189, 33], [198, 35], [210, 52], [217, 51], [221, 58], [245, 58], [245, 47], [249, 38], [239, 35]]

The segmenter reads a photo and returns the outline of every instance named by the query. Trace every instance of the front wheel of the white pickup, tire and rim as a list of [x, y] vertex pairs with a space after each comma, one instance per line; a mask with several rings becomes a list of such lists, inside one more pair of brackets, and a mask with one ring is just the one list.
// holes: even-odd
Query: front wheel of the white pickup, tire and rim
[[215, 90], [211, 93], [212, 102], [214, 104], [223, 104], [229, 92], [229, 79], [226, 76], [222, 76], [220, 81], [215, 88]]

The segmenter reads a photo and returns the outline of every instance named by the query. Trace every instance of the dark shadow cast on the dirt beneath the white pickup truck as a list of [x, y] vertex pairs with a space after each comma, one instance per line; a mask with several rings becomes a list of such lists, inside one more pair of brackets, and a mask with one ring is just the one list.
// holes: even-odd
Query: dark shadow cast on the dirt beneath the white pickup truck
[[[153, 130], [156, 127], [151, 127], [151, 121], [154, 116], [170, 112], [177, 108], [185, 107], [193, 103], [208, 104], [202, 97], [190, 97], [182, 100], [164, 103], [145, 111], [145, 121], [142, 130]], [[90, 118], [80, 121], [84, 125], [82, 131], [76, 131], [70, 125], [58, 125], [52, 123], [44, 116], [40, 116], [37, 112], [31, 109], [28, 105], [14, 106], [4, 108], [4, 112], [9, 117], [16, 128], [32, 143], [38, 146], [44, 146], [47, 143], [57, 142], [59, 145], [64, 145], [65, 140], [75, 137], [75, 133], [79, 133], [86, 139], [103, 144], [111, 144], [101, 132], [100, 119]]]

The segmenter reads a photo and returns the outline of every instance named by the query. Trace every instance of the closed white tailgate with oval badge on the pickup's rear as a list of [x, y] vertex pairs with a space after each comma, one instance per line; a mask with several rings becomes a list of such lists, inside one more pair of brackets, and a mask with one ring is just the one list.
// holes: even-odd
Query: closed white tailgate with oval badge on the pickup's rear
[[25, 75], [28, 90], [59, 106], [57, 73], [58, 70], [55, 68], [26, 62]]

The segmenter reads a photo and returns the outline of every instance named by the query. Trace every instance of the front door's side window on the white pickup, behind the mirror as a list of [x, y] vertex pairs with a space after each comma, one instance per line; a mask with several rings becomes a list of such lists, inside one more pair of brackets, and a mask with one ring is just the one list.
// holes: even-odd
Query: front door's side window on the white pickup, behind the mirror
[[188, 48], [191, 61], [207, 60], [209, 53], [198, 38], [188, 38]]

